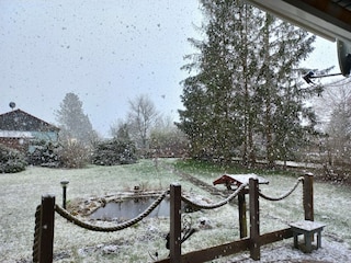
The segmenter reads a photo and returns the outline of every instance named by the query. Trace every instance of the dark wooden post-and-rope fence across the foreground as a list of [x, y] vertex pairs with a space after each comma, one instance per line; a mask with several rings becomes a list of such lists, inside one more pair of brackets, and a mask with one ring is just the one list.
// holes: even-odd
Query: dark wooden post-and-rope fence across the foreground
[[[169, 232], [169, 249], [170, 255], [167, 259], [156, 261], [156, 263], [185, 263], [185, 262], [206, 262], [218, 259], [220, 256], [227, 256], [241, 251], [250, 251], [250, 258], [253, 260], [260, 260], [260, 248], [264, 244], [276, 242], [283, 239], [292, 238], [293, 232], [291, 228], [285, 228], [274, 232], [260, 235], [260, 213], [259, 213], [259, 197], [268, 201], [281, 201], [292, 194], [299, 182], [303, 182], [303, 207], [305, 214], [305, 220], [314, 220], [314, 199], [313, 199], [313, 174], [305, 174], [299, 178], [295, 185], [286, 194], [280, 197], [269, 197], [259, 191], [259, 183], [257, 179], [250, 179], [248, 184], [240, 185], [233, 194], [227, 198], [216, 204], [196, 204], [189, 198], [181, 195], [181, 185], [171, 184], [169, 191], [165, 191], [143, 214], [118, 224], [114, 227], [98, 227], [70, 215], [66, 209], [55, 204], [55, 196], [45, 195], [42, 197], [42, 204], [37, 207], [35, 213], [35, 232], [33, 244], [33, 262], [47, 263], [53, 262], [53, 243], [54, 243], [54, 218], [55, 211], [65, 217], [72, 224], [92, 230], [92, 231], [118, 231], [127, 227], [133, 226], [137, 221], [144, 219], [150, 214], [166, 197], [170, 194], [170, 232]], [[248, 186], [248, 190], [247, 190]], [[226, 205], [236, 196], [249, 194], [249, 221], [250, 233], [246, 237], [245, 229], [246, 217], [240, 218], [240, 240], [219, 244], [216, 247], [206, 248], [199, 251], [189, 252], [186, 254], [181, 253], [182, 243], [182, 226], [181, 226], [181, 202], [186, 202], [192, 206], [196, 206], [201, 209], [213, 209]], [[240, 207], [239, 207], [240, 211]]]

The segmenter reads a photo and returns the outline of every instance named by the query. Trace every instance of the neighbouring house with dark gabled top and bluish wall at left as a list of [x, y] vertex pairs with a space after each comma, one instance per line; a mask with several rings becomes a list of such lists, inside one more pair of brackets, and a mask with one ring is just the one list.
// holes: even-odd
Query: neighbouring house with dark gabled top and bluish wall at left
[[58, 141], [59, 128], [21, 110], [0, 114], [0, 144], [21, 151], [35, 150], [37, 140]]

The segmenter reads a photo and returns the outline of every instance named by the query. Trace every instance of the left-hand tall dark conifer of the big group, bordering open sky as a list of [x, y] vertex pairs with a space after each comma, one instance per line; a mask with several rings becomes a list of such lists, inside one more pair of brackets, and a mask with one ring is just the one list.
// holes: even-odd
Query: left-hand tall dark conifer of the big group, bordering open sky
[[[182, 101], [186, 110], [180, 112], [179, 127], [190, 136], [193, 149], [204, 151], [205, 156], [228, 159], [245, 140], [242, 114], [235, 110], [242, 104], [241, 61], [246, 50], [240, 43], [239, 16], [234, 14], [240, 11], [242, 4], [230, 1], [202, 3], [208, 21], [208, 25], [203, 28], [207, 41], [191, 39], [201, 54], [190, 57], [195, 60], [184, 69], [195, 69], [199, 73], [183, 82]], [[190, 115], [197, 118], [195, 125], [190, 119], [185, 121]], [[182, 127], [184, 121], [192, 127], [191, 134]]]

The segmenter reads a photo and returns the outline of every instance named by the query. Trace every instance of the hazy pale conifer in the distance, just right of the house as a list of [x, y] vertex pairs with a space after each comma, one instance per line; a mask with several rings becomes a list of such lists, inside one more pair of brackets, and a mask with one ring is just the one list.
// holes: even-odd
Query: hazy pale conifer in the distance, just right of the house
[[55, 113], [61, 128], [61, 137], [88, 145], [97, 138], [97, 133], [88, 115], [83, 113], [82, 105], [77, 94], [67, 93], [60, 103], [60, 110]]

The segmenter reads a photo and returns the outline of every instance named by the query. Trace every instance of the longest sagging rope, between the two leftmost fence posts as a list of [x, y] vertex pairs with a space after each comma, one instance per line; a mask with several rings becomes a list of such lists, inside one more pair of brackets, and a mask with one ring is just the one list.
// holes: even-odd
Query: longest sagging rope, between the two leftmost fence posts
[[145, 211], [143, 211], [141, 214], [139, 214], [135, 218], [132, 218], [127, 221], [121, 222], [121, 224], [113, 226], [113, 227], [101, 227], [101, 226], [94, 226], [94, 225], [84, 222], [84, 221], [78, 219], [77, 217], [72, 216], [69, 211], [67, 211], [66, 209], [61, 208], [58, 205], [55, 205], [55, 210], [61, 217], [66, 218], [67, 220], [71, 221], [72, 224], [75, 224], [81, 228], [92, 230], [92, 231], [99, 231], [99, 232], [114, 232], [114, 231], [120, 231], [122, 229], [132, 227], [133, 225], [143, 220], [162, 202], [162, 199], [166, 197], [167, 194], [169, 194], [169, 190], [167, 190], [162, 194], [160, 194], [159, 197]]

